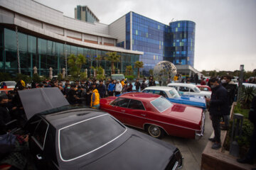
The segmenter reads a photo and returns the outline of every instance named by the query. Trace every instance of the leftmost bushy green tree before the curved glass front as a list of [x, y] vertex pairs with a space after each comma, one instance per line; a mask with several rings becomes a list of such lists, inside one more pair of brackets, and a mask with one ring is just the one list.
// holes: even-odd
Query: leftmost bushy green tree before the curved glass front
[[70, 55], [68, 57], [68, 67], [70, 69], [70, 74], [77, 78], [80, 75], [82, 69], [82, 64], [86, 63], [86, 58], [83, 55]]

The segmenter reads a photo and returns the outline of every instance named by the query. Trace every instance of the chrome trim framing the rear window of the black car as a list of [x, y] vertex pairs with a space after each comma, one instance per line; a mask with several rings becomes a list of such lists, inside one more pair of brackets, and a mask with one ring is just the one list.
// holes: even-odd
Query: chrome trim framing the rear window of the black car
[[[78, 123], [82, 123], [82, 122], [85, 122], [85, 121], [87, 121], [87, 120], [92, 120], [92, 119], [95, 119], [95, 118], [100, 118], [100, 117], [105, 116], [105, 115], [109, 115], [109, 114], [98, 115], [98, 116], [95, 116], [95, 117], [93, 117], [93, 118], [88, 118], [88, 119], [86, 119], [86, 120], [82, 120], [82, 121], [80, 121], [80, 122], [78, 122]], [[113, 118], [111, 115], [109, 115], [109, 116], [110, 116], [111, 118]], [[116, 119], [114, 118], [114, 120], [116, 120]], [[118, 122], [119, 122], [119, 121], [118, 121]], [[121, 125], [125, 128], [124, 132], [122, 132], [122, 134], [120, 134], [119, 136], [115, 137], [113, 140], [110, 140], [110, 142], [107, 142], [107, 143], [105, 143], [105, 145], [102, 145], [102, 146], [100, 146], [100, 147], [97, 147], [96, 149], [93, 149], [92, 151], [87, 152], [86, 154], [82, 154], [82, 155], [80, 155], [80, 156], [78, 156], [78, 157], [75, 157], [75, 158], [73, 158], [73, 159], [65, 160], [65, 159], [63, 159], [63, 157], [61, 156], [61, 153], [60, 153], [60, 130], [63, 130], [63, 129], [65, 129], [65, 128], [68, 128], [68, 127], [73, 126], [73, 125], [77, 125], [78, 123], [73, 123], [72, 125], [65, 126], [64, 128], [61, 128], [61, 129], [58, 130], [58, 149], [59, 149], [60, 159], [61, 159], [63, 162], [70, 162], [70, 161], [73, 161], [73, 160], [78, 159], [78, 158], [80, 158], [80, 157], [84, 157], [85, 155], [90, 154], [90, 153], [92, 153], [92, 152], [95, 152], [97, 149], [100, 149], [100, 148], [102, 148], [102, 147], [105, 147], [106, 145], [110, 144], [110, 143], [113, 142], [114, 140], [117, 140], [117, 138], [119, 138], [119, 137], [121, 137], [122, 135], [124, 135], [125, 132], [127, 132], [127, 128], [126, 128], [124, 125], [121, 124]], [[120, 122], [119, 122], [119, 123], [120, 123]]]

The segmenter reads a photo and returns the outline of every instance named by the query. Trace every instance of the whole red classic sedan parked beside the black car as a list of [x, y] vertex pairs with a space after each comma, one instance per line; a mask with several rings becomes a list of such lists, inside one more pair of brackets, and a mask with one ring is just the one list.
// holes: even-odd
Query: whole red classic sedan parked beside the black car
[[158, 94], [129, 93], [100, 99], [100, 108], [125, 125], [146, 130], [152, 137], [203, 136], [203, 109], [171, 103]]

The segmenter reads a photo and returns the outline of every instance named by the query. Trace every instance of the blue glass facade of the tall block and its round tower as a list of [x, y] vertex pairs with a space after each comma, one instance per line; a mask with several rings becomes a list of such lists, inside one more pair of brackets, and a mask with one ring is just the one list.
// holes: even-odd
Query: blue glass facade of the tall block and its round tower
[[144, 74], [163, 60], [193, 67], [196, 23], [177, 21], [167, 26], [131, 13], [127, 13], [125, 17], [126, 49], [144, 52], [140, 58], [144, 63]]

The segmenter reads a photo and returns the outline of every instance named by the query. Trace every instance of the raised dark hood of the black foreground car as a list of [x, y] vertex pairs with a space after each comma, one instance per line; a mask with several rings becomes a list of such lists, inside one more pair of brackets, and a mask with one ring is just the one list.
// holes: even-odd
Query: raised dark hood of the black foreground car
[[18, 91], [18, 94], [27, 119], [30, 119], [36, 113], [69, 105], [67, 99], [57, 87], [23, 90]]

